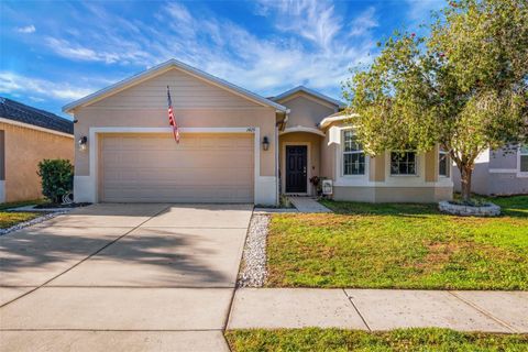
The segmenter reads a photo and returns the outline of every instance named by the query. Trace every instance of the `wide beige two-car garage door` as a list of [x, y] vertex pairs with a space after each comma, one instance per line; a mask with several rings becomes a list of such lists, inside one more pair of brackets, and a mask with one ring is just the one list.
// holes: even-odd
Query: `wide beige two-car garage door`
[[102, 136], [103, 201], [253, 202], [253, 136]]

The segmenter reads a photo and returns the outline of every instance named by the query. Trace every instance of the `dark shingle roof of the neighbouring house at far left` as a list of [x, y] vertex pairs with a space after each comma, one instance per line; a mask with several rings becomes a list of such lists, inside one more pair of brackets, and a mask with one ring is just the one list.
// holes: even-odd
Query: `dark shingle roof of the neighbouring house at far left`
[[3, 97], [0, 97], [0, 118], [74, 134], [74, 122]]

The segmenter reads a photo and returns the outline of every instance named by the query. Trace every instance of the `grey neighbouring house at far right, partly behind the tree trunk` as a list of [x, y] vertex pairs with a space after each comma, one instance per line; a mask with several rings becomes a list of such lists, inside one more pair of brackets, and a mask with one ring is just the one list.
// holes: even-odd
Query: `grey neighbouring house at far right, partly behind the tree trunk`
[[[455, 165], [452, 169], [454, 189], [460, 191], [460, 170]], [[487, 196], [528, 194], [528, 147], [486, 150], [479, 155], [471, 189]]]

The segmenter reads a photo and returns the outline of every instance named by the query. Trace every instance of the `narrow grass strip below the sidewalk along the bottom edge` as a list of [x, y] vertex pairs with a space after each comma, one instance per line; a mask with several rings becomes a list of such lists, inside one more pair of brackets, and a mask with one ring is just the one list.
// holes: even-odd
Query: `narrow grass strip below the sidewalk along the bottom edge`
[[364, 332], [337, 329], [231, 330], [234, 352], [250, 351], [527, 351], [528, 334], [463, 333], [446, 329]]

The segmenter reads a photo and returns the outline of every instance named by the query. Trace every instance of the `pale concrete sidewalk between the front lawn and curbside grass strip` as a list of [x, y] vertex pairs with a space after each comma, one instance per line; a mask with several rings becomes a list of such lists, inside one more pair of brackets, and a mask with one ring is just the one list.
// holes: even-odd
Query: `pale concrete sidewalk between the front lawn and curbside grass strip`
[[228, 329], [438, 327], [528, 333], [528, 292], [242, 288]]

